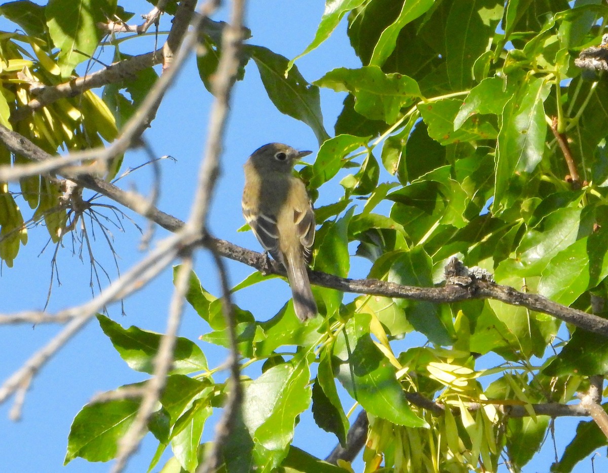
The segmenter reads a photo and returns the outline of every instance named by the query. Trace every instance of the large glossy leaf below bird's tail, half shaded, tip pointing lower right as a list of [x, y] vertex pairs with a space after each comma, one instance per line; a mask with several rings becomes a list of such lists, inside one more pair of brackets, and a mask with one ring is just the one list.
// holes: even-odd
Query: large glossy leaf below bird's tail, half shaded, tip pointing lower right
[[371, 316], [354, 314], [336, 337], [333, 372], [348, 393], [371, 415], [407, 427], [428, 427], [410, 409], [395, 367], [374, 345], [369, 334]]

